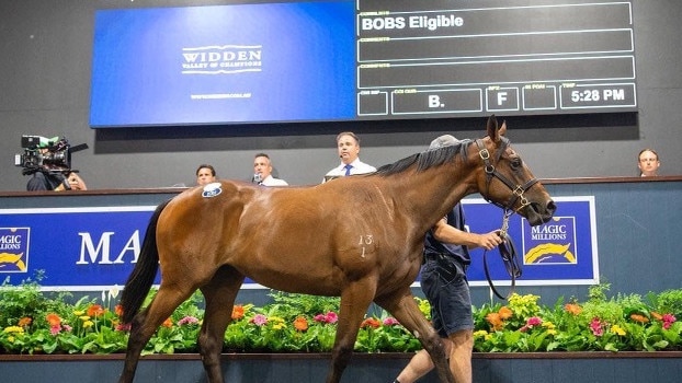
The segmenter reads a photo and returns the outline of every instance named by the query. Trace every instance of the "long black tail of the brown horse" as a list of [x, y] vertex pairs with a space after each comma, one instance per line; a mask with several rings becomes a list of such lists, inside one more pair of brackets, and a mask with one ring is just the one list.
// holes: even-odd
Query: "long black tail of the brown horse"
[[139, 307], [145, 302], [145, 298], [151, 289], [151, 283], [157, 276], [159, 268], [159, 249], [157, 247], [157, 223], [159, 222], [159, 216], [161, 211], [171, 200], [167, 200], [159, 205], [155, 210], [149, 225], [147, 225], [147, 232], [145, 233], [145, 240], [143, 242], [143, 248], [140, 249], [137, 264], [128, 276], [128, 280], [125, 282], [123, 294], [121, 295], [121, 307], [123, 309], [123, 323], [133, 322], [133, 317], [139, 311]]

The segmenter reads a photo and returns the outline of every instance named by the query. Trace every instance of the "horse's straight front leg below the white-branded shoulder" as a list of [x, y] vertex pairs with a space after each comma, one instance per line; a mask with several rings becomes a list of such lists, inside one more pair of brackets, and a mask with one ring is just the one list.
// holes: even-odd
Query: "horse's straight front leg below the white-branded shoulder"
[[337, 338], [331, 352], [331, 369], [327, 375], [327, 383], [338, 383], [341, 380], [341, 374], [353, 355], [360, 324], [375, 291], [376, 283], [370, 280], [352, 282], [341, 291]]

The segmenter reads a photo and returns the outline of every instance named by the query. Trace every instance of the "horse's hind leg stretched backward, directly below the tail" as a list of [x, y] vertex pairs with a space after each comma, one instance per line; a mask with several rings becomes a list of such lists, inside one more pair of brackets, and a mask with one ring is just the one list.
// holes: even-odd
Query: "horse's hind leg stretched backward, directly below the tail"
[[149, 306], [135, 315], [130, 324], [130, 336], [125, 356], [123, 374], [118, 383], [132, 383], [139, 361], [139, 356], [157, 328], [171, 316], [175, 307], [184, 302], [194, 290], [172, 290], [163, 286], [157, 292]]

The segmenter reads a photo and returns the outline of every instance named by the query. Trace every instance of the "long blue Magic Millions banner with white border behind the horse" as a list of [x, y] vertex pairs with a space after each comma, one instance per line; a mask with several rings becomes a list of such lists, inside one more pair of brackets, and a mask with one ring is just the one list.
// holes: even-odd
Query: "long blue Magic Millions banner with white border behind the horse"
[[[557, 216], [531, 228], [514, 214], [509, 234], [523, 256], [518, 285], [599, 282], [594, 198], [557, 197]], [[502, 210], [482, 199], [463, 201], [469, 230], [500, 229]], [[44, 275], [44, 290], [122, 287], [139, 255], [156, 206], [0, 209], [0, 279], [10, 285]], [[487, 285], [482, 251], [471, 252], [471, 286]], [[488, 254], [496, 285], [509, 282], [497, 251]], [[157, 283], [159, 277], [157, 276]], [[247, 279], [245, 288], [262, 288]]]

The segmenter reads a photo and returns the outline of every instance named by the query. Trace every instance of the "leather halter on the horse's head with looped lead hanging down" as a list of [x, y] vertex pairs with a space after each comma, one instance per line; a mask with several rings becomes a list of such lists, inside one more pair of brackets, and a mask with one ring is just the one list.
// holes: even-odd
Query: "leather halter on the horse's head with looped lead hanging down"
[[[514, 242], [508, 233], [509, 217], [514, 212], [519, 212], [519, 210], [523, 209], [524, 207], [531, 205], [531, 202], [528, 202], [527, 198], [525, 198], [523, 194], [537, 183], [537, 178], [528, 179], [523, 185], [514, 185], [511, 181], [509, 181], [509, 178], [500, 174], [500, 172], [495, 169], [495, 165], [490, 163], [490, 152], [487, 148], [484, 147], [482, 140], [476, 140], [476, 146], [478, 147], [478, 155], [484, 161], [484, 169], [486, 172], [486, 194], [481, 193], [481, 195], [488, 202], [491, 202], [504, 210], [504, 217], [502, 218], [502, 228], [500, 229], [500, 236], [502, 237], [502, 243], [498, 245], [498, 251], [500, 252], [500, 256], [502, 257], [502, 263], [504, 264], [507, 274], [509, 274], [509, 276], [511, 277], [511, 287], [507, 297], [500, 294], [500, 292], [495, 288], [495, 285], [492, 283], [492, 279], [490, 278], [490, 271], [488, 270], [488, 258], [486, 257], [488, 251], [484, 252], [484, 270], [486, 271], [486, 279], [488, 280], [490, 290], [499, 299], [507, 300], [514, 292], [514, 288], [516, 286], [516, 278], [521, 277], [521, 264], [519, 263], [516, 247], [514, 246]], [[501, 146], [500, 149], [498, 149], [498, 151], [496, 152], [497, 160], [500, 159], [500, 156], [502, 155], [502, 151], [507, 146]], [[512, 190], [512, 197], [507, 202], [507, 205], [498, 204], [489, 198], [490, 182], [493, 177], [501, 181], [504, 185], [507, 185], [507, 187], [509, 187], [510, 190]], [[520, 200], [521, 206], [516, 210], [514, 210], [513, 208], [514, 204], [516, 204], [516, 200]]]

